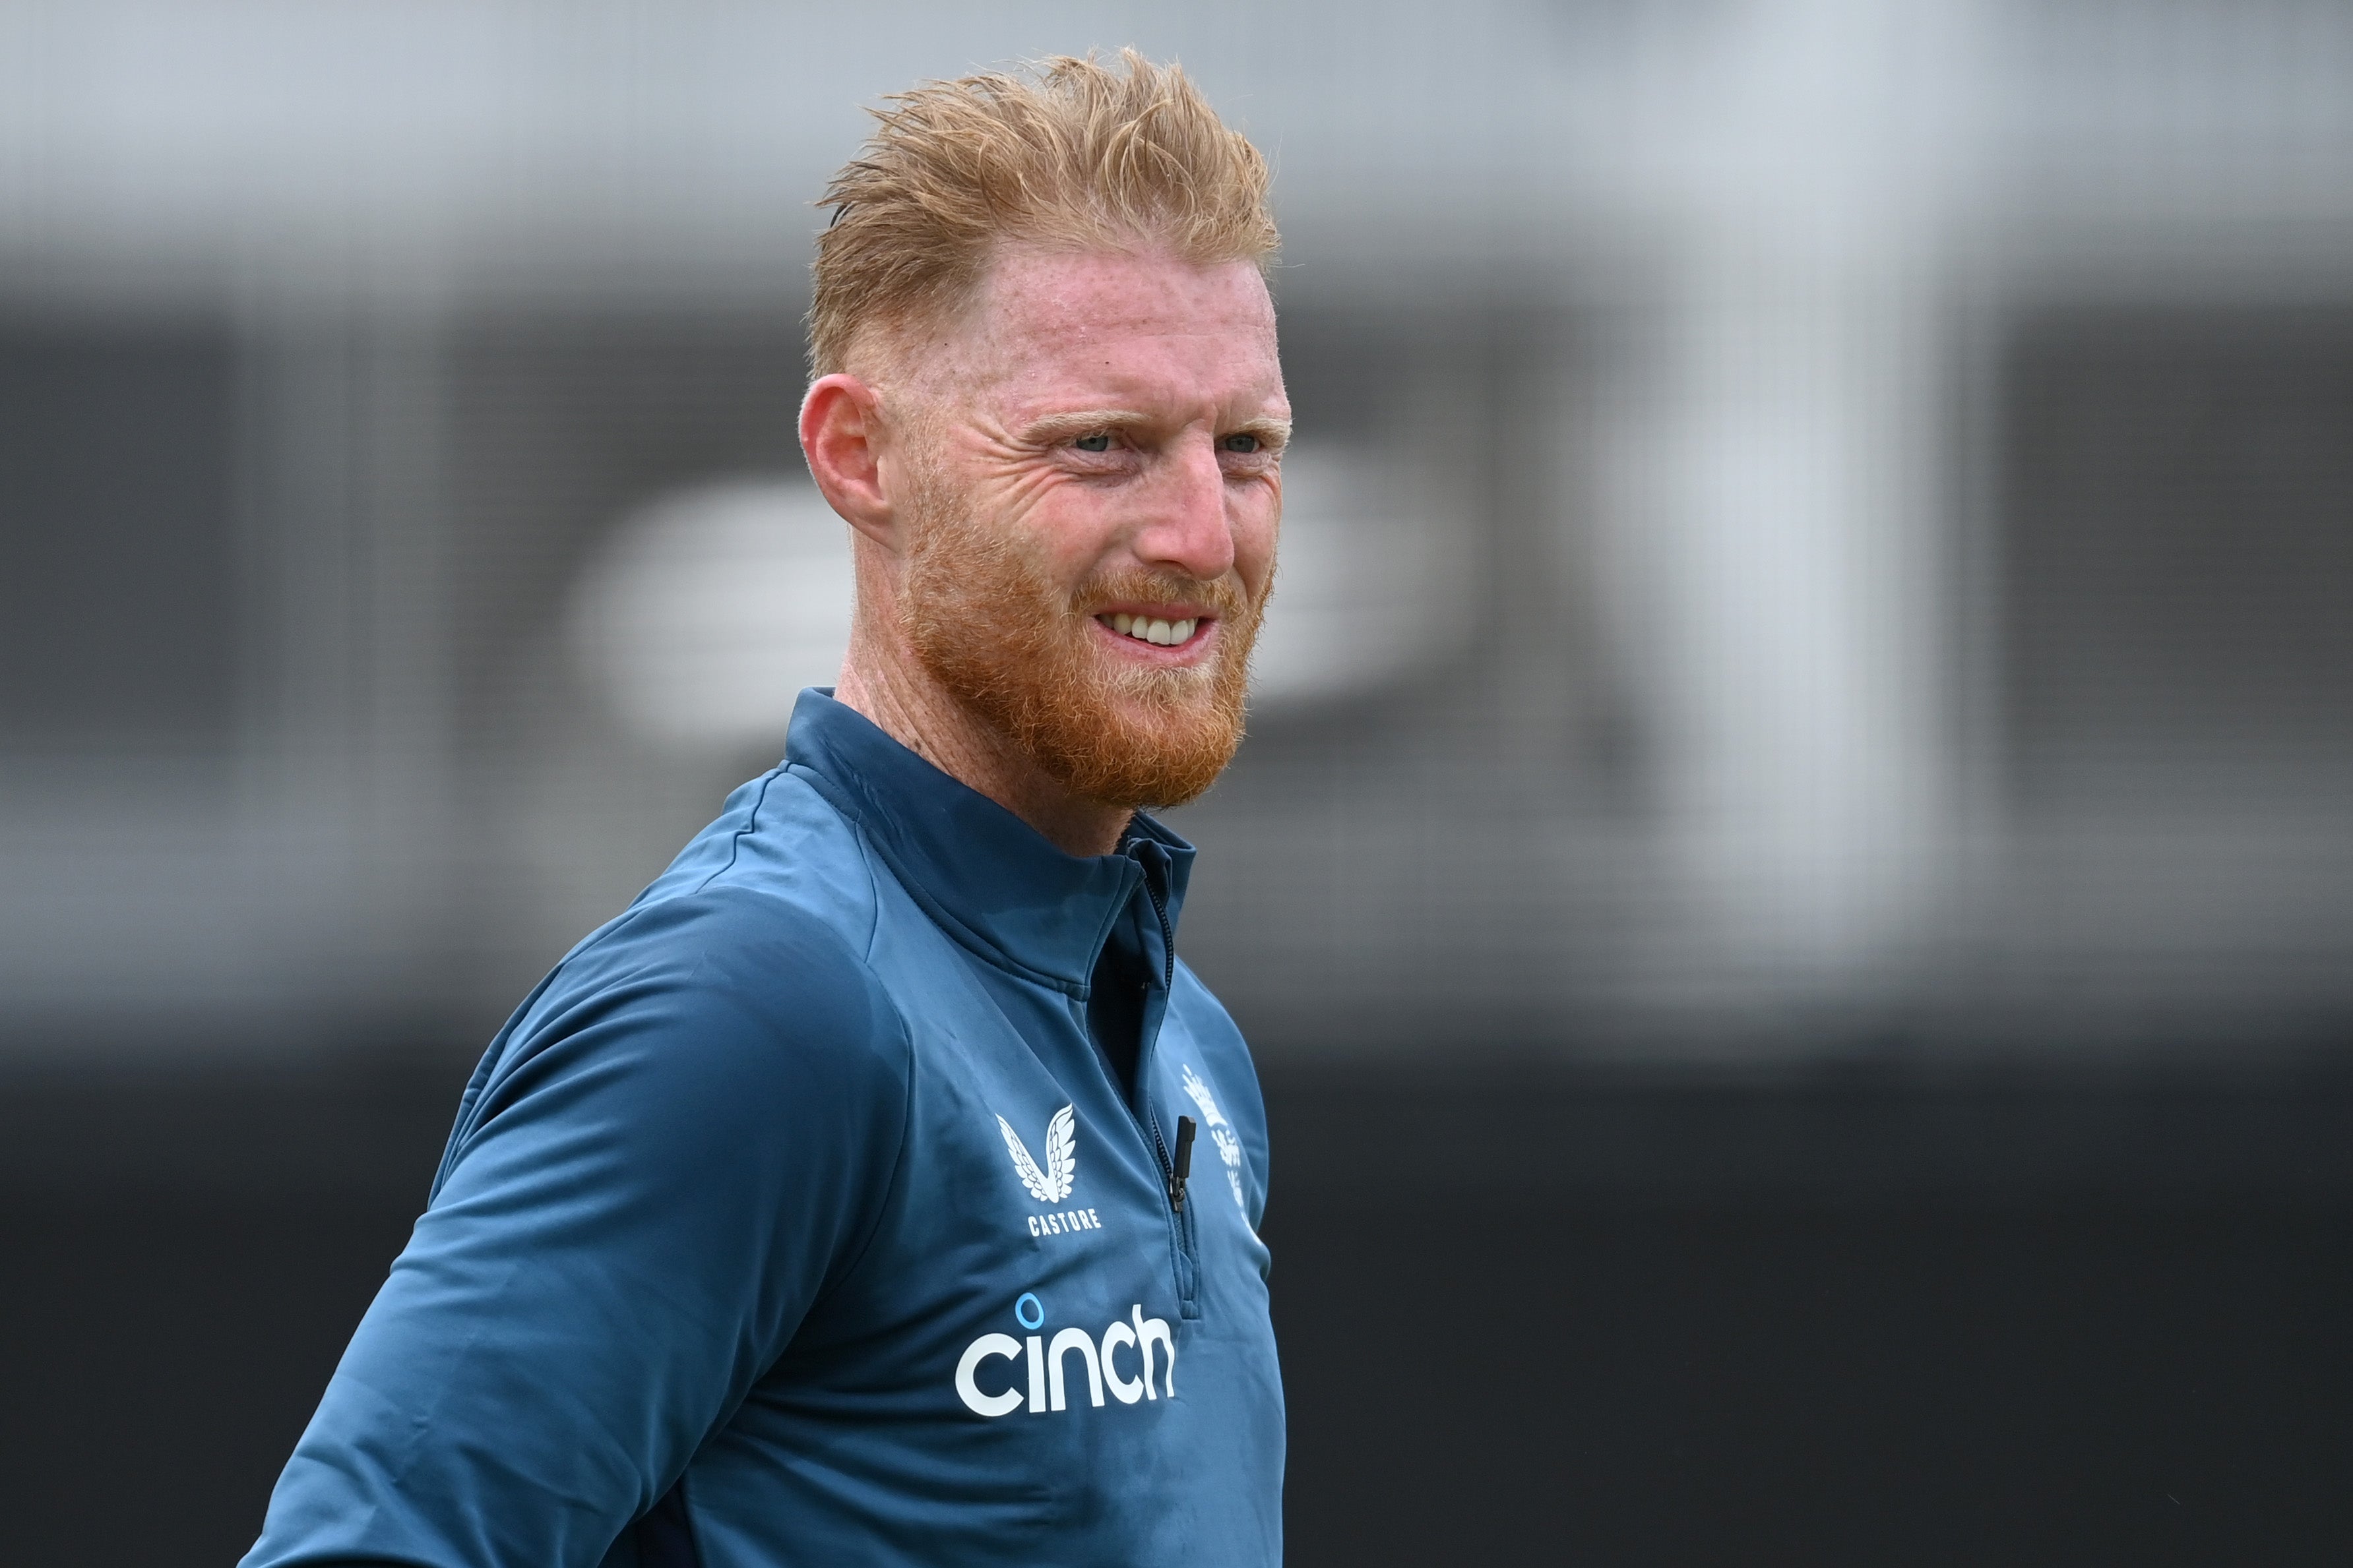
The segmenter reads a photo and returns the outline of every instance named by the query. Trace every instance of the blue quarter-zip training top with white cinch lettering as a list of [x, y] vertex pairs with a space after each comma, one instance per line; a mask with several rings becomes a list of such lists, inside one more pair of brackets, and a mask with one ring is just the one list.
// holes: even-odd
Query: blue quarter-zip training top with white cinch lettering
[[1278, 1563], [1266, 1112], [1172, 952], [1191, 860], [1066, 856], [805, 691], [492, 1041], [245, 1568]]

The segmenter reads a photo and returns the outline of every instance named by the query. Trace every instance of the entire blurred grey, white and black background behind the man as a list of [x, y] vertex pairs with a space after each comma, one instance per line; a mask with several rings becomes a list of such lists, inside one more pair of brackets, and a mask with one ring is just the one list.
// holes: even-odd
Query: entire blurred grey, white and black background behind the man
[[1134, 42], [1301, 435], [1181, 947], [1294, 1563], [2344, 1561], [2339, 0], [0, 0], [0, 1488], [233, 1561], [847, 628], [861, 106]]

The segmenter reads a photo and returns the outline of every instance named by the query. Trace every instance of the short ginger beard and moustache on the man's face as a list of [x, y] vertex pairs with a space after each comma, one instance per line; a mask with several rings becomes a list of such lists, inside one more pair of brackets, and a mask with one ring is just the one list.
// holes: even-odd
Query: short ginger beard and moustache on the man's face
[[[1249, 646], [1268, 590], [1245, 597], [1231, 581], [1101, 571], [1064, 592], [1016, 531], [969, 517], [934, 484], [922, 489], [899, 618], [932, 679], [1080, 799], [1181, 806], [1217, 783], [1242, 743]], [[1092, 621], [1122, 599], [1207, 607], [1217, 618], [1209, 658], [1186, 668], [1120, 661]]]

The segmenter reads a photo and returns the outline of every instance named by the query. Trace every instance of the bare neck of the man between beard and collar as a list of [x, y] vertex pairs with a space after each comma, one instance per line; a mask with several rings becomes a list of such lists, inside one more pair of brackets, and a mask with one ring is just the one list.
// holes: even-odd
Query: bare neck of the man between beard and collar
[[1012, 741], [948, 696], [908, 658], [875, 656], [854, 637], [833, 701], [845, 703], [948, 778], [979, 790], [1066, 856], [1108, 856], [1134, 811], [1071, 795]]

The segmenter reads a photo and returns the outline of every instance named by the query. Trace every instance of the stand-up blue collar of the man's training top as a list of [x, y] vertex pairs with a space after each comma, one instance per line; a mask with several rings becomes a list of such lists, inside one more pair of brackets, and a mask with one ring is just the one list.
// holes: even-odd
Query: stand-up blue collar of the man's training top
[[828, 686], [793, 703], [784, 766], [859, 825], [932, 919], [1002, 969], [1085, 997], [1104, 938], [1136, 889], [1176, 929], [1193, 846], [1141, 811], [1113, 853], [1066, 856], [833, 701]]

